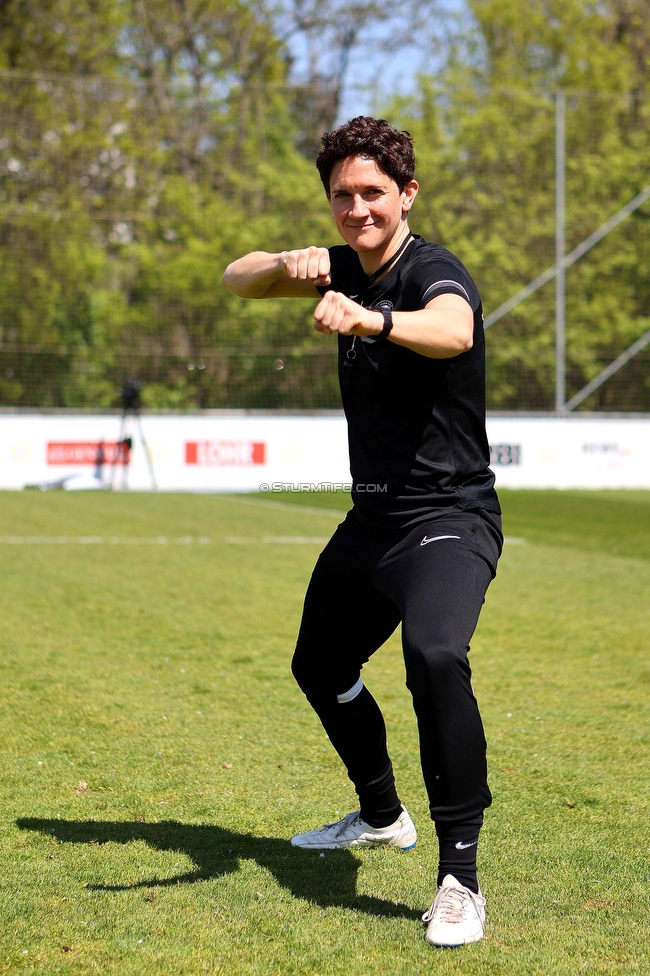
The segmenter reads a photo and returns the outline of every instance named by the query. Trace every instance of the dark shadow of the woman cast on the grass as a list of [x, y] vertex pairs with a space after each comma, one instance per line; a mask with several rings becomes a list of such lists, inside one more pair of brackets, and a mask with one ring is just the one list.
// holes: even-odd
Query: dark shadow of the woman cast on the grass
[[[254, 860], [266, 868], [295, 898], [322, 906], [339, 906], [368, 915], [417, 919], [420, 913], [400, 902], [358, 895], [359, 862], [349, 850], [303, 851], [287, 840], [237, 834], [209, 824], [184, 824], [176, 820], [160, 823], [140, 821], [45, 820], [21, 817], [20, 830], [33, 830], [56, 837], [63, 844], [128, 844], [142, 840], [159, 851], [186, 854], [196, 870], [171, 878], [147, 878], [133, 884], [90, 884], [95, 891], [132, 891], [137, 888], [193, 884], [239, 870], [240, 860]], [[398, 852], [396, 851], [397, 855]]]

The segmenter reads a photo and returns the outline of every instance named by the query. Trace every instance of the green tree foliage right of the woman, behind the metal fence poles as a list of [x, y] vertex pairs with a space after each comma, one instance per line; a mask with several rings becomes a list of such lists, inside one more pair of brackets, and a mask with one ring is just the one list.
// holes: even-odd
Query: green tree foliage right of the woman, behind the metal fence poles
[[[488, 313], [555, 261], [554, 92], [567, 91], [567, 252], [648, 184], [650, 108], [645, 93], [630, 93], [639, 78], [629, 38], [612, 42], [611, 9], [582, 0], [471, 9], [465, 46], [393, 114], [416, 140], [412, 223], [463, 257]], [[650, 324], [647, 214], [646, 205], [567, 273], [569, 395]], [[488, 332], [493, 409], [552, 408], [554, 309], [550, 283]], [[643, 377], [632, 386], [636, 408], [650, 408]], [[620, 388], [618, 403], [610, 392], [585, 406], [629, 409]]]

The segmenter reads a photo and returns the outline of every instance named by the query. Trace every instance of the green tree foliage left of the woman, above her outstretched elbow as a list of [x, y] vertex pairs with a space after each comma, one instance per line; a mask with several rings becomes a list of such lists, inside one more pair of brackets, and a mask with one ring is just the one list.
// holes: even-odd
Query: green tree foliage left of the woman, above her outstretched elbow
[[[228, 360], [210, 361], [200, 389], [186, 364], [215, 346], [290, 353], [314, 340], [308, 303], [246, 306], [221, 286], [225, 265], [285, 246], [287, 215], [302, 239], [331, 236], [292, 138], [268, 11], [93, 6], [66, 42], [77, 74], [63, 71], [60, 37], [83, 21], [77, 6], [48, 6], [37, 37], [23, 33], [33, 13], [2, 8], [0, 64], [13, 69], [0, 95], [3, 402], [106, 406], [120, 373], [136, 372], [149, 406], [231, 405]], [[101, 16], [92, 44], [84, 32]], [[38, 77], [19, 73], [36, 66], [34, 45]]]

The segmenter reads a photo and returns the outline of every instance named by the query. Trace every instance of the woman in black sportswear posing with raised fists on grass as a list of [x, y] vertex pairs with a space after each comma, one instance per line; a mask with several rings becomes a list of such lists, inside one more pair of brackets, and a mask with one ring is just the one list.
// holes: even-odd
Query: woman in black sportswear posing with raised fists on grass
[[440, 849], [426, 938], [477, 942], [485, 899], [476, 852], [491, 796], [467, 654], [502, 544], [481, 302], [458, 258], [409, 230], [418, 184], [408, 133], [352, 119], [325, 134], [316, 165], [345, 244], [255, 251], [223, 277], [242, 298], [320, 297], [315, 328], [339, 343], [354, 507], [314, 569], [293, 672], [360, 809], [292, 844], [415, 846], [384, 720], [361, 679], [401, 622]]

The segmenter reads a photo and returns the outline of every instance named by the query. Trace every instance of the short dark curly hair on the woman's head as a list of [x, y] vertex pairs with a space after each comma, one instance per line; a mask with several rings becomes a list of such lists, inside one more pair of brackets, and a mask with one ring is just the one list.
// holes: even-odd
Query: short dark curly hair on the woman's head
[[316, 166], [328, 196], [332, 169], [335, 163], [348, 156], [374, 159], [395, 180], [400, 193], [415, 174], [415, 153], [410, 133], [394, 129], [386, 119], [358, 115], [338, 129], [325, 133]]

